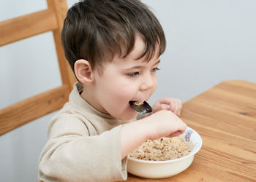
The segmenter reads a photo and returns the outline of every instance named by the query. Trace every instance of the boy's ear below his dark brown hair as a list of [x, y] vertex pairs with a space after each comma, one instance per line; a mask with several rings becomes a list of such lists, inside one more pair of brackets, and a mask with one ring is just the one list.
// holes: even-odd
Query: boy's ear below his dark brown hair
[[91, 69], [91, 64], [87, 60], [77, 60], [74, 65], [75, 76], [77, 76], [78, 80], [89, 86], [94, 84], [94, 74]]

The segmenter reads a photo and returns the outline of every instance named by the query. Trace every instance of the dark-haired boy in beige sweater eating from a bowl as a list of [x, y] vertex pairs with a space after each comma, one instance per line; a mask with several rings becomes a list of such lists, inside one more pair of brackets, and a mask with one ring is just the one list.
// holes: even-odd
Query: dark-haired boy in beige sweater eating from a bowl
[[123, 181], [127, 154], [146, 140], [183, 133], [181, 101], [162, 98], [138, 119], [129, 101], [157, 87], [165, 35], [138, 0], [85, 0], [69, 9], [62, 44], [78, 83], [53, 117], [39, 157], [42, 181]]

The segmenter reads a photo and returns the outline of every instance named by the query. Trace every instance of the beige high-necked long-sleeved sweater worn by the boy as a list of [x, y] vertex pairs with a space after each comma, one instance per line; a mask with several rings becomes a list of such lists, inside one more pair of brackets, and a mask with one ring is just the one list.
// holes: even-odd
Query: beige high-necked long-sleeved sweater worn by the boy
[[127, 158], [121, 159], [121, 122], [102, 114], [80, 97], [74, 85], [69, 102], [48, 127], [39, 157], [42, 181], [123, 181]]

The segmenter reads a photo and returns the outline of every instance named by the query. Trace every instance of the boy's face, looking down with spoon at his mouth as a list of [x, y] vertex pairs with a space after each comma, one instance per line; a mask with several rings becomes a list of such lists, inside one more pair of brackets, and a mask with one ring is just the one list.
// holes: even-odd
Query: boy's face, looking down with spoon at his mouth
[[94, 103], [97, 110], [108, 113], [117, 119], [129, 120], [137, 115], [129, 101], [148, 100], [157, 88], [157, 66], [159, 57], [154, 55], [149, 62], [139, 58], [145, 44], [140, 37], [126, 58], [114, 57], [106, 63], [102, 74], [94, 71]]

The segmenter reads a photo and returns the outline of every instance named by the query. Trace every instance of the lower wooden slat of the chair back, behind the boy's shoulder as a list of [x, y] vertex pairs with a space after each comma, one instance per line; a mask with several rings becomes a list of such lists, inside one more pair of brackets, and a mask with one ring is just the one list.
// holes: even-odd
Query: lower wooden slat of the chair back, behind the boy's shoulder
[[0, 135], [61, 108], [69, 92], [69, 86], [64, 85], [0, 110]]

